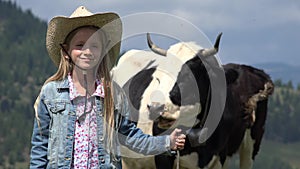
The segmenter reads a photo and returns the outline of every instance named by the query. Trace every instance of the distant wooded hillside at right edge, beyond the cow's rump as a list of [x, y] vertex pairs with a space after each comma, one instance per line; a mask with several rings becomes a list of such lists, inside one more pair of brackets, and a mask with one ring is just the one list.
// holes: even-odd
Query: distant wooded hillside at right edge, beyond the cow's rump
[[291, 81], [276, 80], [274, 83], [276, 87], [269, 99], [265, 138], [285, 143], [300, 141], [300, 90], [294, 89]]

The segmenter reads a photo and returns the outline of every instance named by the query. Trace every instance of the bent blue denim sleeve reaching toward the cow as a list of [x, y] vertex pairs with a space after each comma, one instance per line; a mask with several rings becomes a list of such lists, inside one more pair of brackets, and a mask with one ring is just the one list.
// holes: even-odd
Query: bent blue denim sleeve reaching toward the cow
[[119, 116], [121, 116], [118, 139], [119, 142], [129, 149], [144, 155], [157, 155], [170, 151], [170, 137], [151, 136], [143, 133], [136, 124], [129, 120], [130, 109], [125, 92], [120, 87], [114, 87], [117, 90], [116, 104], [119, 106]]

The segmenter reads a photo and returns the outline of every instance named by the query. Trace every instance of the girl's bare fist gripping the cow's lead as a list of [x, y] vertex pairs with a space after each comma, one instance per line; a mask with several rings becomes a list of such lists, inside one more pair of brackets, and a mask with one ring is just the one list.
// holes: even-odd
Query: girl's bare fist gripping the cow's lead
[[182, 150], [184, 148], [186, 136], [184, 134], [181, 134], [180, 132], [181, 132], [181, 129], [176, 128], [170, 134], [170, 140], [171, 140], [170, 148], [171, 148], [171, 150]]

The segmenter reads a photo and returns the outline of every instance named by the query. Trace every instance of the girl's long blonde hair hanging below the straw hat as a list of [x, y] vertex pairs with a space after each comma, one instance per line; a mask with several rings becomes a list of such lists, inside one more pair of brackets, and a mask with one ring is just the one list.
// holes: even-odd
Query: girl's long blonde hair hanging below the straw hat
[[[90, 28], [95, 28], [94, 26], [84, 26], [84, 27], [90, 27]], [[79, 27], [82, 28], [82, 27]], [[77, 31], [79, 30], [79, 28], [74, 29], [73, 31], [71, 31], [69, 33], [69, 35], [67, 35], [66, 39], [65, 39], [65, 43], [67, 46], [69, 45], [71, 39], [73, 38], [73, 36], [77, 33]], [[97, 28], [97, 30], [99, 31], [99, 28]], [[97, 31], [97, 32], [98, 32]], [[105, 48], [105, 44], [108, 42], [107, 38], [105, 36], [105, 33], [103, 31], [99, 31], [102, 32], [101, 35], [101, 40], [102, 40], [102, 45]], [[113, 99], [113, 85], [112, 85], [112, 77], [110, 75], [110, 67], [109, 65], [111, 65], [110, 63], [110, 55], [109, 52], [105, 51], [106, 49], [104, 49], [105, 52], [105, 56], [103, 57], [97, 73], [96, 73], [96, 78], [98, 79], [102, 79], [102, 83], [104, 86], [104, 93], [105, 93], [105, 99], [104, 99], [104, 138], [106, 138], [106, 144], [105, 147], [108, 151], [110, 152], [116, 152], [117, 149], [115, 147], [115, 117], [114, 117], [114, 99]], [[61, 50], [61, 59], [60, 59], [60, 64], [58, 66], [57, 72], [55, 74], [53, 74], [51, 77], [49, 77], [46, 81], [46, 83], [49, 83], [51, 81], [61, 81], [63, 79], [65, 79], [68, 75], [69, 72], [72, 72], [74, 68], [74, 65], [72, 64], [72, 62], [70, 62], [70, 60], [67, 60], [64, 57], [64, 51]], [[100, 113], [100, 112], [99, 112]]]

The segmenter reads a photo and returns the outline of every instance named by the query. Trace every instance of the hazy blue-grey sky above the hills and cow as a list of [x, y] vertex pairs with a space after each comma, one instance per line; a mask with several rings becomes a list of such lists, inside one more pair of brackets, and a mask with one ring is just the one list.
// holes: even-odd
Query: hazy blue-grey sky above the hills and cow
[[[144, 35], [147, 28], [158, 34], [154, 28], [166, 31], [161, 34], [167, 38], [157, 34], [153, 38], [164, 48], [178, 41], [195, 41], [209, 47], [223, 32], [219, 58], [224, 64], [278, 62], [300, 66], [299, 0], [11, 1], [47, 22], [57, 15], [70, 16], [81, 5], [92, 12], [118, 13], [127, 36], [122, 51], [147, 48]], [[128, 34], [127, 30], [137, 33]]]

